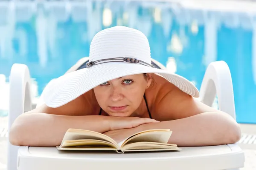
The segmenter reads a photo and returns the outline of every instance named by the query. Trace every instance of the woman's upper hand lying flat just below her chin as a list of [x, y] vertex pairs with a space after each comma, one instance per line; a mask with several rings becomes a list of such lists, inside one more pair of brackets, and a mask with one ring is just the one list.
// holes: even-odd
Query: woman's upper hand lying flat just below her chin
[[110, 120], [110, 131], [119, 129], [128, 129], [140, 126], [141, 124], [156, 123], [156, 121], [151, 118], [138, 118], [138, 117], [108, 117]]

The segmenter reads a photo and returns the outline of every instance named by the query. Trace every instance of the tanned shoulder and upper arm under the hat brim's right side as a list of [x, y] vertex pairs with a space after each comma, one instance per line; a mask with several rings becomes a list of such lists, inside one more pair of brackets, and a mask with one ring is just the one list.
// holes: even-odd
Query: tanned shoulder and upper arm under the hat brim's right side
[[[156, 89], [152, 88], [153, 118], [160, 121], [175, 120], [197, 115], [203, 112], [215, 112], [216, 109], [203, 104], [198, 98], [180, 90], [161, 76], [154, 76]], [[150, 94], [149, 94], [150, 95]]]

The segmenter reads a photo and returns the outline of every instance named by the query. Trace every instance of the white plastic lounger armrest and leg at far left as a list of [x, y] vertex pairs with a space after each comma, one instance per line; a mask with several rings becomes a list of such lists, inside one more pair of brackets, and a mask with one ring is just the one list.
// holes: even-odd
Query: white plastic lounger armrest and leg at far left
[[[9, 89], [9, 124], [8, 136], [10, 128], [15, 119], [22, 114], [32, 109], [32, 96], [30, 92], [31, 79], [29, 69], [24, 64], [13, 64], [10, 74], [10, 89]], [[17, 146], [8, 144], [8, 170], [17, 170]]]

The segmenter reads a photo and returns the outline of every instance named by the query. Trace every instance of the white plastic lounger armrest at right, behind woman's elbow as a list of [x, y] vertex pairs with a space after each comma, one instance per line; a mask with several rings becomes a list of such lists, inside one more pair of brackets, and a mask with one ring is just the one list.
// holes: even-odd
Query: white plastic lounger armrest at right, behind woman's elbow
[[216, 94], [219, 110], [236, 120], [232, 78], [230, 69], [224, 61], [209, 64], [200, 88], [201, 101], [208, 106], [212, 106]]

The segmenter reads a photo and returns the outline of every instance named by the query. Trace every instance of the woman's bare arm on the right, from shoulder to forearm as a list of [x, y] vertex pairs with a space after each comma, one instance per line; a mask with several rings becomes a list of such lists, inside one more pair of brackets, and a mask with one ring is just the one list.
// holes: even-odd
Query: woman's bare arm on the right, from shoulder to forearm
[[167, 128], [170, 143], [202, 146], [235, 143], [241, 137], [239, 124], [227, 113], [209, 107], [174, 87], [156, 104], [159, 123], [140, 126], [143, 130]]

